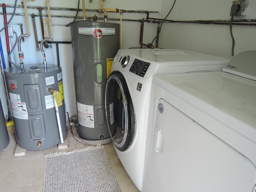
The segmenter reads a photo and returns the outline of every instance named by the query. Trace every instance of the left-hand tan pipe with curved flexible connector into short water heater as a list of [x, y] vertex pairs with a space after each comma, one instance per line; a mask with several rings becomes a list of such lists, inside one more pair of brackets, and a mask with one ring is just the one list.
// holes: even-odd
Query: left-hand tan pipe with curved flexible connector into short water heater
[[24, 54], [21, 50], [20, 42], [23, 37], [29, 37], [30, 36], [30, 28], [29, 28], [29, 22], [28, 22], [28, 9], [27, 9], [27, 3], [26, 0], [23, 0], [24, 4], [24, 10], [25, 10], [25, 17], [26, 17], [26, 24], [27, 24], [27, 33], [26, 34], [21, 34], [18, 38], [18, 53], [19, 53], [19, 58], [20, 58], [20, 68], [24, 68], [23, 65], [23, 59], [24, 59]]

